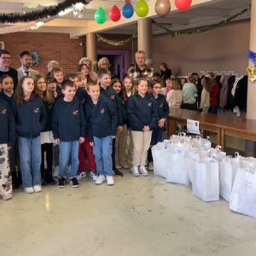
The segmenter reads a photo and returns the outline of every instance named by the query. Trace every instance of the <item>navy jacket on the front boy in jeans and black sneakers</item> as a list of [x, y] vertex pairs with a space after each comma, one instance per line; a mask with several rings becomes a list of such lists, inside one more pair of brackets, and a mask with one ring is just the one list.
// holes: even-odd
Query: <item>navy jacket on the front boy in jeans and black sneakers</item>
[[52, 131], [55, 139], [63, 142], [78, 141], [84, 137], [86, 120], [84, 109], [79, 99], [74, 96], [73, 101], [65, 102], [63, 97], [55, 102], [52, 115]]

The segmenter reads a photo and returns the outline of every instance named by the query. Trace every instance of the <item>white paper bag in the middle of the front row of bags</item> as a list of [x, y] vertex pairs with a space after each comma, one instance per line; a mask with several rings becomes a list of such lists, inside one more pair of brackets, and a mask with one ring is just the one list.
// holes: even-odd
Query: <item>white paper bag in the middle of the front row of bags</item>
[[202, 201], [218, 201], [219, 179], [218, 161], [211, 158], [195, 160], [192, 191]]

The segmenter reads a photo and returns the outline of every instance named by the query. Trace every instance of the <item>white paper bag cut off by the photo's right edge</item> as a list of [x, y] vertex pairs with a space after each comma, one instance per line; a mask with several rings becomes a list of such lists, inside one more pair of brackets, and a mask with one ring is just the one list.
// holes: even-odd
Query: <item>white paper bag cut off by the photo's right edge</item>
[[239, 168], [230, 195], [230, 209], [256, 218], [256, 172], [253, 168]]

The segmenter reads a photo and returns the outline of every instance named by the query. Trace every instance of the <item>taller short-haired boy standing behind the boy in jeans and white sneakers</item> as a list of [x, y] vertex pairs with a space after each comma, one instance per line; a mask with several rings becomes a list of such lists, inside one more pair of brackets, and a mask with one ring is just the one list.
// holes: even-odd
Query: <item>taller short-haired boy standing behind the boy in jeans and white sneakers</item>
[[[106, 68], [101, 68], [98, 72], [98, 79], [101, 84], [101, 94], [108, 97], [111, 102], [113, 102], [114, 107], [118, 114], [118, 130], [123, 129], [123, 118], [122, 118], [122, 102], [119, 100], [119, 96], [110, 86], [111, 84], [111, 73]], [[115, 166], [115, 138], [113, 138], [113, 148], [112, 148], [112, 162], [113, 162], [113, 172], [116, 176], [123, 177], [123, 173], [120, 172]]]

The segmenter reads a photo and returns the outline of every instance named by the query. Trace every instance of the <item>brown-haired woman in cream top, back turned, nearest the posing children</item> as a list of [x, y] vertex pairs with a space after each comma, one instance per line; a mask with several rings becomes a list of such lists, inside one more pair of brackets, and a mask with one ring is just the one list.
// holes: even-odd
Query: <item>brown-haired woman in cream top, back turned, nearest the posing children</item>
[[181, 85], [178, 79], [172, 80], [172, 90], [167, 93], [166, 101], [170, 111], [171, 108], [180, 108], [183, 102], [183, 90], [181, 90]]

